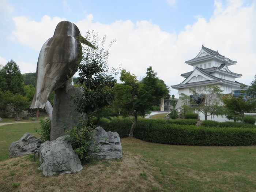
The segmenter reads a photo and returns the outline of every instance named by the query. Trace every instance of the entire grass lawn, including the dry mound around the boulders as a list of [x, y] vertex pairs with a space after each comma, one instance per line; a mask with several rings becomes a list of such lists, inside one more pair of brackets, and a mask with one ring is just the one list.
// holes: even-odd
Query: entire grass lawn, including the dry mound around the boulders
[[[39, 123], [9, 126], [0, 127], [1, 150], [23, 133], [33, 134]], [[33, 155], [6, 159], [1, 153], [6, 160], [0, 162], [0, 191], [256, 191], [255, 146], [174, 146], [133, 138], [121, 144], [122, 159], [95, 161], [79, 173], [52, 177], [42, 175]]]

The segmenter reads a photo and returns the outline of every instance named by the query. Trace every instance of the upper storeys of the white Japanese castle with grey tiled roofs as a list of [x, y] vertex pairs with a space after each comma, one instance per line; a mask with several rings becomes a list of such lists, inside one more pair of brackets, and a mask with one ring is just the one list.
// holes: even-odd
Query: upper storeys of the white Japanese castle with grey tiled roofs
[[[173, 89], [178, 90], [178, 94], [191, 95], [189, 89], [198, 88], [200, 90], [210, 84], [221, 87], [223, 94], [237, 94], [241, 90], [240, 83], [236, 81], [236, 78], [240, 78], [242, 74], [231, 72], [229, 69], [229, 66], [235, 65], [237, 61], [219, 54], [218, 50], [214, 51], [202, 45], [197, 56], [185, 63], [191, 65], [193, 71], [181, 74], [185, 80], [172, 86]], [[182, 100], [178, 99], [176, 108], [182, 105]]]

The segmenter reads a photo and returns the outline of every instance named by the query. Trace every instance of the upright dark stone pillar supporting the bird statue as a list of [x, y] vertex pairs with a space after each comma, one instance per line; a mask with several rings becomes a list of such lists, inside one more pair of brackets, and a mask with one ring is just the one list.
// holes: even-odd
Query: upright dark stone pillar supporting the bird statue
[[[74, 124], [78, 124], [80, 114], [71, 96], [79, 93], [83, 87], [59, 88], [55, 91], [54, 105], [52, 111], [50, 140], [54, 140], [65, 135], [65, 129], [69, 129]], [[67, 91], [67, 92], [66, 92]]]

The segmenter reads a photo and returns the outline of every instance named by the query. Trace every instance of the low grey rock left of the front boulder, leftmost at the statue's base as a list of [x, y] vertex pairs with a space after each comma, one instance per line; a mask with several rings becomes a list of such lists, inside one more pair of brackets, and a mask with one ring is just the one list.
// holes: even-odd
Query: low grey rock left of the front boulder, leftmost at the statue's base
[[41, 139], [36, 138], [30, 133], [25, 133], [20, 140], [12, 142], [9, 148], [9, 157], [13, 158], [34, 153], [40, 144]]

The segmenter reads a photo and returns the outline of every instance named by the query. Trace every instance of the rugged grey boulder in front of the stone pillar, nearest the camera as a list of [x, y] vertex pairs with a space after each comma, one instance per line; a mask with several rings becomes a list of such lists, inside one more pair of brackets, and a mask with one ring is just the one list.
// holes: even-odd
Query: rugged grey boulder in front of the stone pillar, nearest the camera
[[52, 176], [56, 173], [74, 173], [83, 169], [78, 155], [72, 149], [69, 136], [64, 135], [51, 142], [42, 143], [39, 148], [38, 168], [44, 176]]

